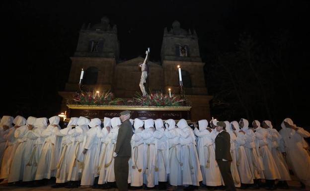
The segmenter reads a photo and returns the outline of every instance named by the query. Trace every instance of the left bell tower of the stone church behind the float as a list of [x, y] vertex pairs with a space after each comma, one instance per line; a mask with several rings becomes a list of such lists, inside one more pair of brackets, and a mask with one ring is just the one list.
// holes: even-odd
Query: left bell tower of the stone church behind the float
[[79, 32], [78, 46], [65, 91], [77, 91], [81, 69], [84, 70], [84, 90], [111, 90], [116, 61], [119, 57], [119, 41], [116, 25], [112, 26], [107, 17]]

